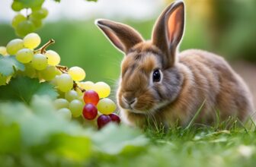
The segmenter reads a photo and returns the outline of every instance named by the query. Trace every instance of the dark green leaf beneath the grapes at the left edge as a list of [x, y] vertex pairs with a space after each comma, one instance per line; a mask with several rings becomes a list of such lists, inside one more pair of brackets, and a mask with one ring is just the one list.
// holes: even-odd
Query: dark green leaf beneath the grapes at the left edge
[[16, 100], [29, 103], [32, 96], [50, 96], [56, 99], [58, 93], [53, 85], [29, 77], [16, 77], [6, 86], [0, 87], [0, 100]]

